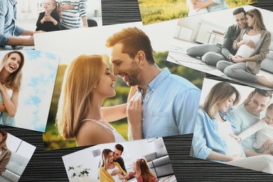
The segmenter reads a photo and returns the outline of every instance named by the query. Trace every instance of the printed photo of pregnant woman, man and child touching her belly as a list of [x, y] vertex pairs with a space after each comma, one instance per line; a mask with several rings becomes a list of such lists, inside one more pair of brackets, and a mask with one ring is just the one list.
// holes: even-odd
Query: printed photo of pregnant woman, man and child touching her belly
[[191, 156], [273, 174], [272, 91], [204, 80]]

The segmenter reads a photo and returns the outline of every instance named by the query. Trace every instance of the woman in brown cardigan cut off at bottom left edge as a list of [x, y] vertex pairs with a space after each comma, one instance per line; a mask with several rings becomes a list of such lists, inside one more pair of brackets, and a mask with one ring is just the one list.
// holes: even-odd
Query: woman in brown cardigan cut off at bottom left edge
[[10, 161], [11, 152], [6, 146], [8, 133], [0, 129], [0, 176], [6, 171], [6, 165]]

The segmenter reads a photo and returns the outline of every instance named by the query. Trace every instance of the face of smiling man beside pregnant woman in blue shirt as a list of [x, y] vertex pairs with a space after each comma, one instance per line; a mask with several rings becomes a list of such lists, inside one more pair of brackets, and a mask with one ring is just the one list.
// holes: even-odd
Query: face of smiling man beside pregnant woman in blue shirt
[[255, 92], [253, 97], [251, 98], [250, 104], [248, 104], [248, 112], [251, 114], [258, 116], [258, 114], [265, 110], [267, 104], [269, 103], [270, 98], [262, 96], [258, 92]]

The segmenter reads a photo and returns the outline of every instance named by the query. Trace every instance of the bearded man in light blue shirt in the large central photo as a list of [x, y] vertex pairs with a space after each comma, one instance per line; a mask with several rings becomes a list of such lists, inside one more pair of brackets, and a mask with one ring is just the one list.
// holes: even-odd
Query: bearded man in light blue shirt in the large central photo
[[[142, 133], [132, 136], [134, 128], [128, 119], [130, 139], [193, 133], [200, 89], [155, 64], [151, 41], [144, 31], [122, 29], [108, 38], [106, 47], [112, 49], [113, 74], [127, 85], [137, 86], [131, 101], [141, 97], [143, 102], [142, 123], [138, 123]], [[131, 107], [132, 102], [128, 105]]]

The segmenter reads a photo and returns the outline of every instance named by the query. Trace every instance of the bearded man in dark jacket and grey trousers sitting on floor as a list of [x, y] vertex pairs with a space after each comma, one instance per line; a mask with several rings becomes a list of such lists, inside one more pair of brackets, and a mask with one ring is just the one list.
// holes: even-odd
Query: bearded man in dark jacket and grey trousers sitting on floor
[[[210, 43], [203, 45], [195, 45], [188, 48], [187, 54], [193, 57], [201, 57], [202, 62], [216, 66], [221, 60], [232, 62], [237, 50], [232, 48], [232, 44], [240, 34], [241, 29], [246, 27], [246, 11], [244, 8], [237, 8], [233, 11], [236, 24], [228, 27], [225, 31], [223, 43]], [[251, 44], [251, 42], [249, 43]]]

